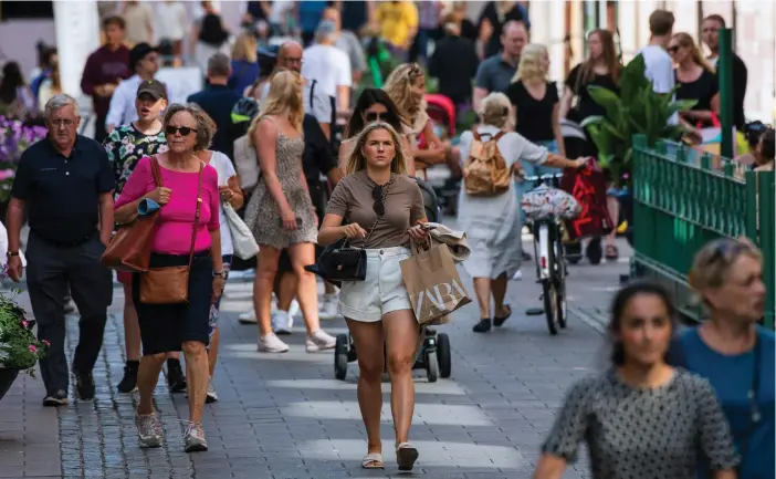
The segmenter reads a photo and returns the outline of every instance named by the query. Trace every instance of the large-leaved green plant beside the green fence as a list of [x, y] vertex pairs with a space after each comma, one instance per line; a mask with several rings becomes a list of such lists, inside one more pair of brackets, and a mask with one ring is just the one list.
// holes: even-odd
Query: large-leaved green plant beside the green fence
[[587, 87], [593, 100], [606, 110], [606, 115], [586, 118], [583, 126], [598, 148], [599, 165], [611, 171], [617, 186], [625, 186], [630, 177], [633, 135], [646, 135], [650, 146], [660, 138], [679, 139], [682, 131], [678, 125], [669, 125], [669, 118], [698, 103], [674, 101], [675, 90], [669, 94], [656, 93], [644, 70], [644, 59], [639, 54], [622, 69], [619, 93], [602, 86]]

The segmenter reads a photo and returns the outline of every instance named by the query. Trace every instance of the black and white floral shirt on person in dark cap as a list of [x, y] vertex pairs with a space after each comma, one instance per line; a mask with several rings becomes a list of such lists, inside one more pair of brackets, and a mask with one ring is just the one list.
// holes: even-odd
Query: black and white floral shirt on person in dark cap
[[113, 175], [116, 178], [116, 198], [118, 198], [137, 162], [144, 156], [167, 152], [167, 139], [164, 129], [154, 135], [145, 135], [130, 123], [111, 132], [103, 142], [103, 146], [113, 165]]

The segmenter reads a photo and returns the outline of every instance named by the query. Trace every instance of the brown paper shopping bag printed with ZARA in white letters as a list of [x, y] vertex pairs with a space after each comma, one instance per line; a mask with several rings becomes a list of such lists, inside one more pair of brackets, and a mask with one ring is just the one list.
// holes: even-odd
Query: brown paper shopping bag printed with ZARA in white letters
[[427, 324], [472, 302], [461, 283], [447, 244], [432, 246], [428, 250], [415, 249], [413, 254], [399, 265], [415, 316], [420, 324]]

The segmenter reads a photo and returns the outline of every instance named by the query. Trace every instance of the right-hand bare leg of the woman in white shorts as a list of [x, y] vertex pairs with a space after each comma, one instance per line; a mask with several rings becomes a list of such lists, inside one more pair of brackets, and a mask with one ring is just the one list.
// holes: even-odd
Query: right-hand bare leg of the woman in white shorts
[[390, 412], [394, 416], [397, 446], [408, 441], [412, 425], [415, 412], [412, 364], [419, 333], [420, 325], [411, 310], [391, 311], [382, 316], [382, 334], [386, 339], [386, 356], [388, 374], [390, 374]]

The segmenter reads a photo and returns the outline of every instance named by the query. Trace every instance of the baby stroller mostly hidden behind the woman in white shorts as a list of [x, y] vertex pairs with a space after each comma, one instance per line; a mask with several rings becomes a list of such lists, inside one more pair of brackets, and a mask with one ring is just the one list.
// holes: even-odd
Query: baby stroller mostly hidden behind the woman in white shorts
[[[423, 180], [417, 178], [416, 180], [420, 187], [420, 192], [423, 195], [426, 217], [431, 222], [439, 222], [442, 214], [437, 195]], [[337, 335], [337, 343], [334, 348], [334, 377], [344, 381], [345, 376], [347, 376], [347, 364], [353, 363], [357, 358], [356, 345], [350, 334]], [[426, 369], [426, 377], [429, 379], [429, 383], [434, 383], [439, 377], [450, 377], [451, 367], [450, 336], [444, 333], [426, 330], [423, 344], [412, 365], [412, 369]]]

